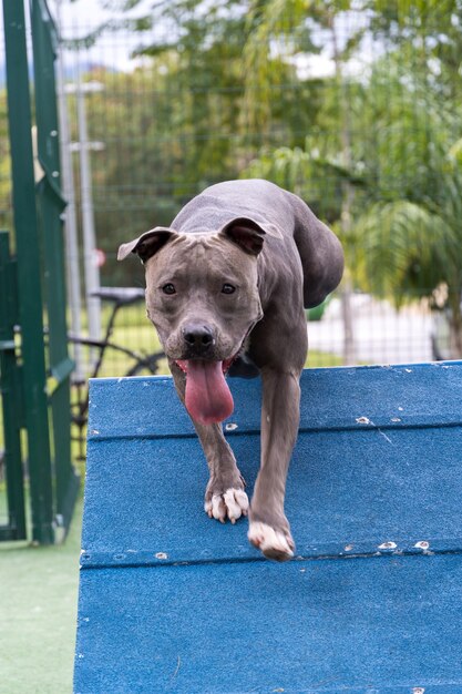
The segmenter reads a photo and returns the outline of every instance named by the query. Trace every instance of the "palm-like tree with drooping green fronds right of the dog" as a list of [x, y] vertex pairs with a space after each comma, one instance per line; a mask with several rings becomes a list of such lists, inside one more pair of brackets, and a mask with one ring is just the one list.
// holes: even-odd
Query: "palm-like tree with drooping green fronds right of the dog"
[[[339, 4], [329, 4], [338, 21]], [[268, 0], [270, 6], [277, 0]], [[460, 3], [363, 7], [369, 7], [369, 23], [350, 45], [357, 49], [362, 38], [378, 42], [369, 74], [326, 82], [326, 108], [305, 147], [265, 150], [249, 171], [298, 188], [330, 217], [360, 287], [401, 305], [423, 296], [435, 303], [443, 285], [453, 356], [462, 356], [462, 133], [454, 98]], [[337, 62], [346, 64], [340, 52]], [[348, 90], [343, 98], [342, 88]], [[331, 102], [343, 106], [330, 110]], [[346, 229], [340, 220], [351, 191]]]

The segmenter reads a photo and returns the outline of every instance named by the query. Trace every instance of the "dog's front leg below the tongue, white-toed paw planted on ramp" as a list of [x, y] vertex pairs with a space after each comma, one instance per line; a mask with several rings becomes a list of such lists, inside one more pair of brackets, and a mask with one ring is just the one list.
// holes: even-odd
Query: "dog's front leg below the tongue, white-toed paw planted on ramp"
[[[170, 364], [176, 391], [185, 401], [186, 378], [175, 363]], [[192, 419], [199, 437], [207, 460], [211, 479], [205, 490], [204, 508], [209, 518], [222, 523], [226, 518], [235, 523], [242, 516], [247, 516], [248, 498], [244, 491], [245, 482], [236, 465], [234, 453], [226, 441], [222, 425], [199, 425]]]

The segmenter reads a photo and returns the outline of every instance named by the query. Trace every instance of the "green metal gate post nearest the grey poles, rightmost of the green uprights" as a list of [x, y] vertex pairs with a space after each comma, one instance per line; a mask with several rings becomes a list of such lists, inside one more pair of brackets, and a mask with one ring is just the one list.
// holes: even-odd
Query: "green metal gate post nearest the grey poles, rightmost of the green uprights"
[[44, 292], [49, 320], [49, 398], [52, 410], [55, 512], [65, 529], [72, 517], [79, 477], [71, 461], [70, 375], [65, 271], [54, 61], [57, 31], [44, 0], [31, 1], [38, 155], [43, 177], [38, 183], [40, 232], [43, 239]]

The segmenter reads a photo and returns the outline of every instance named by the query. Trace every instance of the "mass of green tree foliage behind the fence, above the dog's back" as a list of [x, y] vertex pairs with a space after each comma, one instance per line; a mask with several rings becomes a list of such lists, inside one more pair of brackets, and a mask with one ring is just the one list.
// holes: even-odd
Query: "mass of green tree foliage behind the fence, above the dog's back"
[[[105, 86], [86, 96], [104, 283], [143, 282], [121, 242], [206, 185], [263, 176], [342, 235], [357, 286], [400, 304], [444, 284], [458, 304], [460, 0], [101, 2], [113, 18], [84, 44], [130, 27], [142, 45], [137, 70], [88, 75]], [[321, 54], [331, 74], [310, 76]]]

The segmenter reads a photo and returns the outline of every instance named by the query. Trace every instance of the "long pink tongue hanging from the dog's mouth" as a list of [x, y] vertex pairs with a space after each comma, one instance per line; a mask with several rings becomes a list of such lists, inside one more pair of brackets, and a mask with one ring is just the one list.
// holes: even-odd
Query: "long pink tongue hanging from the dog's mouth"
[[189, 359], [186, 372], [186, 407], [195, 421], [211, 425], [233, 414], [233, 396], [223, 375], [222, 361]]

